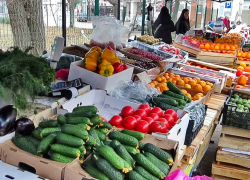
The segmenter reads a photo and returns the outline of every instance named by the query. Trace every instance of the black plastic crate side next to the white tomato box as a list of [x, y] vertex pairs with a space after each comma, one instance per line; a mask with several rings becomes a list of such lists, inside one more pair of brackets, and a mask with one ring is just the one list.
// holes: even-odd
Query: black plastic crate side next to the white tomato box
[[[205, 105], [205, 111], [207, 112], [207, 105]], [[191, 119], [190, 117], [184, 145], [190, 146], [197, 134], [200, 132], [206, 118], [206, 112], [203, 119], [199, 123], [196, 123], [196, 120]]]

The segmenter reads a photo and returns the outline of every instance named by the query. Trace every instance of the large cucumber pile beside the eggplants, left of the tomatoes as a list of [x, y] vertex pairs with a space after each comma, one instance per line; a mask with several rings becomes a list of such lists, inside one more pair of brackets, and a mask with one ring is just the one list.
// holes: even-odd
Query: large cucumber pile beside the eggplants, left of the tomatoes
[[57, 120], [40, 122], [30, 136], [17, 135], [12, 141], [24, 151], [54, 161], [69, 163], [80, 158], [83, 162], [112, 129], [97, 111], [95, 106], [76, 107]]

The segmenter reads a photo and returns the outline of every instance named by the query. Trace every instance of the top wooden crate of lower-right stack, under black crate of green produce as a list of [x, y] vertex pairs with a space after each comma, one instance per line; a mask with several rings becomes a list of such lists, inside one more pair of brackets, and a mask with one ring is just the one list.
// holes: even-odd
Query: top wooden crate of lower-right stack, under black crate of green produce
[[218, 146], [250, 152], [250, 131], [229, 126], [222, 126]]

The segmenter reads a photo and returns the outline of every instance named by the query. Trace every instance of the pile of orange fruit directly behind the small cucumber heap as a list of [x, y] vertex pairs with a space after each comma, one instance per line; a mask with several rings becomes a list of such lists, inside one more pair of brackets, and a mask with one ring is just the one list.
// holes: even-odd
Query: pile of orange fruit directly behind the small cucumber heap
[[[171, 81], [177, 86], [182, 86], [187, 89], [194, 89], [200, 92], [208, 92], [212, 89], [213, 84], [210, 82], [202, 81], [200, 78], [181, 77], [173, 73], [165, 73], [162, 76], [158, 76], [155, 80], [149, 83], [150, 86], [157, 88], [163, 92], [169, 90], [167, 82]], [[191, 95], [190, 95], [191, 96]]]

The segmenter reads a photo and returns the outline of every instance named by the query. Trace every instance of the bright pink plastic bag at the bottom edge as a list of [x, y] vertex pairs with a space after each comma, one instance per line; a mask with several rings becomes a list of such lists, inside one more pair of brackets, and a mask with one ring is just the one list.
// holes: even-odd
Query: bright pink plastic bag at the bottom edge
[[213, 178], [207, 176], [188, 177], [183, 171], [176, 170], [168, 175], [165, 180], [213, 180]]

